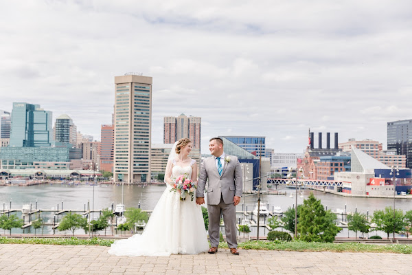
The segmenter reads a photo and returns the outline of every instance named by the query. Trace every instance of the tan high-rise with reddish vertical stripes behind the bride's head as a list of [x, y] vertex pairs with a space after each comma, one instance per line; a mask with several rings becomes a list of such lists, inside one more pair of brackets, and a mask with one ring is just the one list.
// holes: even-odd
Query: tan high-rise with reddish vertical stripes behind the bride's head
[[193, 148], [201, 150], [202, 139], [202, 118], [184, 113], [178, 117], [165, 116], [163, 124], [163, 142], [165, 144], [174, 143], [181, 138], [188, 138], [192, 141]]

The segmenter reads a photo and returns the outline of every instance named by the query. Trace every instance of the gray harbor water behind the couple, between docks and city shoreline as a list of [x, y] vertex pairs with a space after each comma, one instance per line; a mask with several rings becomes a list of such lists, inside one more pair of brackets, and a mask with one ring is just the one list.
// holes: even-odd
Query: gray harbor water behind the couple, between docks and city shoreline
[[[94, 188], [93, 188], [94, 187]], [[123, 190], [123, 201], [128, 207], [140, 207], [143, 210], [153, 210], [157, 201], [161, 197], [161, 194], [165, 190], [165, 186], [127, 186], [125, 185]], [[94, 189], [94, 199], [93, 199]], [[271, 212], [275, 206], [279, 206], [283, 211], [286, 211], [289, 207], [295, 205], [295, 190], [294, 189], [279, 189], [282, 192], [286, 192], [286, 195], [262, 195], [261, 203], [265, 204], [268, 210]], [[393, 206], [393, 199], [380, 199], [380, 198], [361, 198], [361, 197], [341, 197], [328, 193], [323, 193], [315, 190], [301, 190], [303, 198], [298, 194], [298, 204], [303, 203], [303, 200], [308, 197], [310, 192], [314, 192], [317, 199], [321, 199], [323, 206], [330, 210], [336, 211], [338, 209], [345, 210], [347, 212], [362, 212], [371, 216], [374, 210], [383, 210], [387, 206]], [[292, 197], [290, 197], [292, 195]], [[257, 195], [247, 196], [242, 198], [240, 204], [237, 207], [238, 217], [237, 220], [251, 219], [244, 217], [243, 210], [247, 210], [249, 213], [255, 207], [257, 202]], [[85, 184], [80, 185], [68, 185], [68, 184], [43, 184], [38, 186], [1, 186], [0, 187], [0, 211], [10, 209], [10, 201], [12, 203], [12, 209], [21, 209], [23, 204], [32, 203], [32, 209], [36, 207], [38, 209], [54, 209], [56, 210], [83, 210], [87, 209], [88, 203], [90, 209], [100, 210], [102, 208], [111, 208], [112, 203], [114, 206], [117, 203], [122, 203], [122, 186], [115, 186], [111, 184], [102, 184], [97, 186], [89, 186]], [[409, 199], [395, 199], [396, 209], [402, 209], [404, 212], [412, 209], [412, 204]], [[22, 218], [23, 214], [17, 212], [17, 215]], [[43, 220], [53, 221], [54, 212], [42, 212]], [[99, 214], [93, 214], [97, 219]], [[60, 221], [62, 215], [58, 215], [57, 219]], [[27, 215], [25, 217], [28, 219]], [[256, 217], [252, 217], [256, 219]], [[267, 218], [266, 218], [267, 219]], [[338, 219], [341, 220], [341, 215], [338, 215]], [[345, 219], [345, 217], [343, 217]], [[264, 223], [264, 218], [261, 217], [260, 223]], [[252, 227], [251, 236], [256, 235], [256, 227]], [[84, 234], [82, 230], [76, 231], [76, 234]], [[1, 232], [1, 231], [0, 231]], [[23, 230], [14, 228], [12, 233], [22, 233]], [[25, 233], [29, 232], [29, 229], [24, 230]], [[30, 230], [34, 232], [33, 229]], [[39, 232], [37, 230], [37, 232]], [[52, 232], [51, 226], [45, 227], [45, 234]], [[268, 230], [266, 228], [260, 228], [260, 236], [265, 236]], [[8, 232], [1, 232], [2, 234], [9, 234]], [[109, 234], [109, 231], [107, 232]], [[349, 234], [348, 234], [349, 233]], [[56, 234], [60, 234], [56, 230]], [[104, 232], [100, 232], [104, 234]], [[371, 232], [369, 234], [376, 234]], [[378, 232], [382, 237], [386, 237], [383, 232]], [[354, 232], [347, 232], [346, 228], [338, 234], [338, 236], [355, 236]], [[402, 236], [402, 235], [401, 235]]]

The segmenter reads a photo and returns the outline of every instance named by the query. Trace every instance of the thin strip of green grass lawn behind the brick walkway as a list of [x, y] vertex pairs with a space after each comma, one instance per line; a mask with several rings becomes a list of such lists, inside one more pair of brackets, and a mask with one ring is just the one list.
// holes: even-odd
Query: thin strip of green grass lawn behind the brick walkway
[[[110, 239], [63, 239], [63, 238], [8, 238], [0, 237], [0, 244], [43, 244], [43, 245], [102, 245], [110, 246]], [[247, 241], [239, 243], [244, 250], [284, 250], [284, 251], [329, 251], [329, 252], [378, 252], [412, 254], [412, 245], [371, 245], [363, 243], [306, 243], [304, 241]], [[220, 243], [220, 248], [227, 248], [227, 243]]]

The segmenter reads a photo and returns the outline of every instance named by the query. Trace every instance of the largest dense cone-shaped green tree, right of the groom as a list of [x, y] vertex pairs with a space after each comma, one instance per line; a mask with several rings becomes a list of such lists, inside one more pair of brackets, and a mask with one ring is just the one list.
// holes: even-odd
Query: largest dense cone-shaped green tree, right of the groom
[[330, 210], [325, 211], [321, 200], [316, 199], [312, 192], [308, 199], [304, 200], [299, 214], [297, 232], [303, 241], [331, 243], [336, 234], [342, 230], [334, 223], [336, 214]]

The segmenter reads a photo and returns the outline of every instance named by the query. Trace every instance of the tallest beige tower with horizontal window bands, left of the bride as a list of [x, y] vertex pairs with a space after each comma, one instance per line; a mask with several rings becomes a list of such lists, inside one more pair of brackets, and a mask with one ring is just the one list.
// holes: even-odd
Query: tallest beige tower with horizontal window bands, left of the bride
[[115, 76], [115, 181], [150, 181], [152, 77]]

